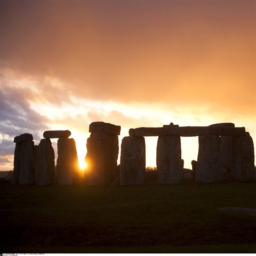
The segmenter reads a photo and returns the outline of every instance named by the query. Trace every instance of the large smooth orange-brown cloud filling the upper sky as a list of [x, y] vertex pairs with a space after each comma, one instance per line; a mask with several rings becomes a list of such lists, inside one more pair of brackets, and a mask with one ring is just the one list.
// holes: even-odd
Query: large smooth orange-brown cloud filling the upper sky
[[253, 10], [252, 1], [2, 1], [3, 67], [40, 81], [51, 102], [251, 111]]

